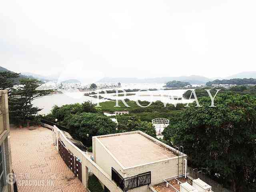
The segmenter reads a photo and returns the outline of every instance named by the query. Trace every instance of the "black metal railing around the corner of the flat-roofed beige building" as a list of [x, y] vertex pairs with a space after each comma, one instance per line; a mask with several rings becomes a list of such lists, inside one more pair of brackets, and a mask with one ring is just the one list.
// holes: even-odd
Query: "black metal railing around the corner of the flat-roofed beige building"
[[137, 188], [151, 183], [151, 172], [138, 174], [136, 176], [123, 178], [114, 168], [112, 168], [112, 180], [114, 180], [123, 191]]

